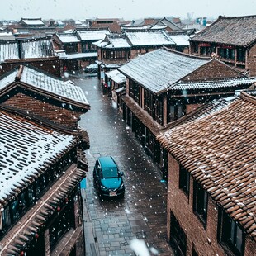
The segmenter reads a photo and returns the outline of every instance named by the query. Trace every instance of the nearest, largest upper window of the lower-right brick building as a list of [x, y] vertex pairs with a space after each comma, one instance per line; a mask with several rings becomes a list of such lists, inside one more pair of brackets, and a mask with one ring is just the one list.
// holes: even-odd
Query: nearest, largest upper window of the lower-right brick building
[[244, 254], [244, 232], [239, 224], [219, 208], [218, 234], [220, 243], [235, 255]]

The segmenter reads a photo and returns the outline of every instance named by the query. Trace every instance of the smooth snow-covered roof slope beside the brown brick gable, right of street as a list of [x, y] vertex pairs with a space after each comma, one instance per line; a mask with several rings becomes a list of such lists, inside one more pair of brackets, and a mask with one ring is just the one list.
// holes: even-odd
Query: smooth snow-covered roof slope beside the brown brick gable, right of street
[[159, 49], [130, 60], [119, 70], [151, 92], [158, 93], [209, 61]]

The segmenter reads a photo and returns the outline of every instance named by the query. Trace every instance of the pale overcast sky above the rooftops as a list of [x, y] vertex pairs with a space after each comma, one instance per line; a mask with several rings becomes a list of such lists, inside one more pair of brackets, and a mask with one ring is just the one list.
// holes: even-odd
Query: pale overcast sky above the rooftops
[[1, 0], [0, 20], [255, 15], [256, 0]]

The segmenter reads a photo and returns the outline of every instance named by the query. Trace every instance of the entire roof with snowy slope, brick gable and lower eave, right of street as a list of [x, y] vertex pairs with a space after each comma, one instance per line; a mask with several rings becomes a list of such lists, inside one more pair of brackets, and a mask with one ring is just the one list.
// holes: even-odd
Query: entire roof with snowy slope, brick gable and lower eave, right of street
[[238, 89], [239, 85], [246, 88], [255, 82], [219, 60], [197, 58], [166, 48], [132, 59], [118, 70], [155, 94], [168, 90]]

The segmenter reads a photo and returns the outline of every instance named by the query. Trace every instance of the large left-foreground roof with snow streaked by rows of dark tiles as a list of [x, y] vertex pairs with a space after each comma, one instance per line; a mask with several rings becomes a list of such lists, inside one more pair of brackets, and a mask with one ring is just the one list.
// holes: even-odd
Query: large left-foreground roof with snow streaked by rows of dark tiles
[[0, 111], [0, 201], [13, 195], [45, 165], [73, 147], [73, 135], [35, 126], [24, 118]]

